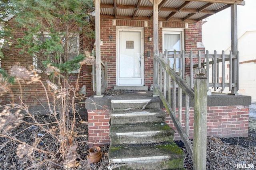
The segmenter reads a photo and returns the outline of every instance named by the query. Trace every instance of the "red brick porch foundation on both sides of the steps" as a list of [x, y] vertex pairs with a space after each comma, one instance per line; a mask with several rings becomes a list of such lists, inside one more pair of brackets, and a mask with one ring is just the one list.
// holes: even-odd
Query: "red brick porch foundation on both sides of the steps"
[[[165, 109], [164, 109], [165, 110]], [[185, 108], [182, 108], [182, 127], [185, 124]], [[109, 144], [110, 111], [88, 111], [88, 141], [90, 146]], [[166, 110], [165, 110], [166, 111]], [[193, 138], [194, 107], [190, 107], [189, 138]], [[178, 116], [177, 116], [178, 117]], [[207, 107], [207, 135], [214, 137], [243, 137], [248, 136], [249, 106], [213, 106]], [[174, 140], [180, 140], [172, 119], [167, 114], [166, 123], [176, 133]]]

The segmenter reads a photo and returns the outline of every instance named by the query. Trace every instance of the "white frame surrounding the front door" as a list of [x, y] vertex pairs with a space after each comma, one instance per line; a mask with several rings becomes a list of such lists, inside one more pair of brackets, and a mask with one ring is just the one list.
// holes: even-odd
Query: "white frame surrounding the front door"
[[[119, 36], [120, 31], [131, 31], [131, 32], [140, 32], [140, 50], [141, 50], [141, 79], [142, 84], [139, 86], [145, 85], [145, 69], [144, 69], [144, 27], [124, 27], [124, 26], [116, 26], [116, 86], [125, 86], [119, 84]], [[128, 86], [128, 85], [127, 85]], [[131, 85], [132, 86], [132, 85]], [[135, 86], [135, 85], [134, 85]], [[137, 85], [138, 86], [138, 85]]]

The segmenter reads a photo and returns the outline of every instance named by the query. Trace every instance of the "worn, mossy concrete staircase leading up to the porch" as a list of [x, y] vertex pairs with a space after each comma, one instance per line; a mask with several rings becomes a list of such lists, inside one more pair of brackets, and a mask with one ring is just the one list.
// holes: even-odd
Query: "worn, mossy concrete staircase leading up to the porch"
[[158, 101], [111, 100], [111, 170], [176, 170], [184, 168], [184, 153], [173, 142]]

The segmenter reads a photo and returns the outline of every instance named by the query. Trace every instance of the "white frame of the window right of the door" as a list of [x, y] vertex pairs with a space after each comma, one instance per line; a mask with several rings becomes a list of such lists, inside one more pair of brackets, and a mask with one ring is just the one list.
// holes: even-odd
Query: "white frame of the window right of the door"
[[[167, 51], [168, 51], [168, 53], [173, 53], [174, 50], [176, 50], [176, 53], [181, 53], [182, 49], [184, 49], [184, 31], [185, 31], [185, 29], [163, 28], [162, 30], [163, 30], [162, 31], [162, 34], [163, 34], [162, 35], [162, 37], [163, 37], [163, 41], [162, 41], [163, 42], [163, 51], [166, 50], [166, 48], [164, 47], [164, 45], [165, 45], [164, 44], [164, 42], [165, 42], [164, 41], [164, 35], [165, 34], [178, 34], [178, 35], [180, 35], [180, 50], [177, 50], [177, 49], [167, 49]], [[177, 61], [178, 61], [179, 65], [178, 64], [176, 65], [176, 72], [178, 72], [179, 69], [181, 69], [181, 66], [182, 66], [181, 59], [178, 58], [178, 59], [176, 59], [176, 63], [177, 63]], [[172, 68], [172, 65], [170, 67]]]

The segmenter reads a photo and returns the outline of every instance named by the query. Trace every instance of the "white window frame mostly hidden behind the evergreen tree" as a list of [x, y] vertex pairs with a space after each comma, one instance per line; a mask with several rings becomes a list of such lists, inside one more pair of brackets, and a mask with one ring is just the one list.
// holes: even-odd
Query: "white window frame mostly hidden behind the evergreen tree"
[[[50, 35], [49, 35], [50, 33], [49, 32], [44, 32], [43, 34], [44, 34], [44, 37], [50, 37]], [[79, 37], [79, 34], [78, 33], [70, 33], [69, 37], [76, 37], [76, 39], [77, 39], [77, 42], [76, 42], [77, 43], [77, 47], [75, 47], [72, 51], [74, 51], [74, 52], [77, 51], [77, 53], [74, 53], [74, 54], [78, 55], [79, 51], [80, 51], [79, 50], [80, 49], [80, 42], [79, 42], [79, 38], [80, 37]], [[37, 39], [36, 36], [34, 36], [34, 38]], [[69, 52], [69, 53], [72, 54], [72, 52]], [[38, 58], [36, 56], [33, 56], [32, 60], [33, 60], [32, 63], [33, 63], [34, 68], [37, 69], [38, 68]], [[70, 73], [79, 73], [79, 72], [80, 72], [80, 69], [77, 68], [77, 70], [72, 70]]]

